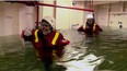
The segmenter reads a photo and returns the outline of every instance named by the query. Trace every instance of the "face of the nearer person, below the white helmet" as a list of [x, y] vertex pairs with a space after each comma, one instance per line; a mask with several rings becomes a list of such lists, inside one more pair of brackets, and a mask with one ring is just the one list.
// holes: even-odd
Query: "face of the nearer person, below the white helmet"
[[42, 32], [44, 35], [47, 35], [51, 32], [51, 26], [47, 22], [42, 22]]

